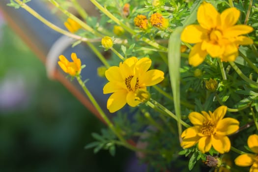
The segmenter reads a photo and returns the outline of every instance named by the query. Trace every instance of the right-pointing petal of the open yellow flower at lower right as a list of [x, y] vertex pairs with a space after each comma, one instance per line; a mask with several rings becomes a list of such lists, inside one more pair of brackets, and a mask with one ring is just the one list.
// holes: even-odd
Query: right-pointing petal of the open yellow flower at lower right
[[230, 135], [239, 129], [239, 122], [234, 118], [226, 117], [219, 120], [216, 128], [217, 128], [217, 131], [216, 131], [217, 134], [225, 135], [225, 136]]

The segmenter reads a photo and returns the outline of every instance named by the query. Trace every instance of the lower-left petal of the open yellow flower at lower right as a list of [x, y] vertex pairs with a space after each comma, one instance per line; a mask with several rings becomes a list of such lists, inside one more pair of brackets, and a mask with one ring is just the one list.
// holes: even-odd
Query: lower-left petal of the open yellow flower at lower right
[[181, 134], [181, 146], [183, 148], [189, 148], [198, 143], [200, 140], [200, 137], [198, 136], [198, 129], [199, 127], [189, 127], [183, 131]]

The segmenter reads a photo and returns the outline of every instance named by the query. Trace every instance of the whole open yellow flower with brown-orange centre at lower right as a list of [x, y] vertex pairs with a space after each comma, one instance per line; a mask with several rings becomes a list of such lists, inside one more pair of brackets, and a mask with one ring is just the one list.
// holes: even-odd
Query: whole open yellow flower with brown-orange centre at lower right
[[239, 122], [231, 117], [223, 118], [226, 112], [227, 107], [220, 106], [213, 113], [209, 111], [209, 114], [204, 111], [202, 115], [190, 113], [188, 118], [194, 126], [183, 131], [181, 146], [189, 148], [198, 143], [202, 153], [208, 152], [211, 146], [219, 153], [228, 152], [230, 141], [227, 135], [238, 130]]

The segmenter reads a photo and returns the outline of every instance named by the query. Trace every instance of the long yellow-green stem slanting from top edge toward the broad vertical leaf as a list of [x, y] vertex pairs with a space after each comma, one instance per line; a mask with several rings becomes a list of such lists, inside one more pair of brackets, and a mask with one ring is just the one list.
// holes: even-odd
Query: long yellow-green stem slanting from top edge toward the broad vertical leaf
[[[122, 23], [119, 19], [117, 19], [111, 12], [109, 12], [109, 10], [107, 10], [106, 8], [104, 8], [101, 4], [99, 4], [96, 0], [90, 0], [101, 12], [103, 12], [105, 15], [107, 15], [110, 19], [112, 19], [117, 25], [120, 25], [123, 29], [125, 29], [126, 31], [128, 31], [130, 34], [136, 36], [137, 38], [140, 38], [141, 35], [137, 35], [137, 33], [131, 29], [130, 27], [126, 26], [124, 23]], [[166, 47], [163, 47], [161, 45], [159, 45], [156, 42], [151, 41], [148, 38], [142, 37], [140, 38], [141, 40], [143, 40], [145, 43], [161, 50], [164, 52], [167, 52], [168, 49]]]

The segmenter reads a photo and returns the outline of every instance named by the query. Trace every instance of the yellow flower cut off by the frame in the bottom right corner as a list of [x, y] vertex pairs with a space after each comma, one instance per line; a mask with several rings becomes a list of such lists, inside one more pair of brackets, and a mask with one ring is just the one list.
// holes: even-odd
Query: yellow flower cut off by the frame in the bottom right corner
[[248, 153], [239, 155], [235, 159], [235, 164], [242, 167], [252, 166], [249, 172], [258, 172], [258, 135], [253, 134], [249, 136], [247, 145], [256, 154]]

